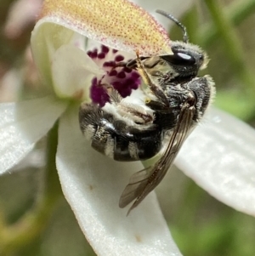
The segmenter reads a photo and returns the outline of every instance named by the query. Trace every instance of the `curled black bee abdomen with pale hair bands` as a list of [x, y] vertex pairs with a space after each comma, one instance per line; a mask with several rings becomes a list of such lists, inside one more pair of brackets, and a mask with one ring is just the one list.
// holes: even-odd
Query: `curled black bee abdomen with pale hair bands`
[[144, 160], [161, 150], [161, 130], [156, 125], [128, 125], [97, 105], [83, 104], [80, 127], [96, 151], [116, 161]]

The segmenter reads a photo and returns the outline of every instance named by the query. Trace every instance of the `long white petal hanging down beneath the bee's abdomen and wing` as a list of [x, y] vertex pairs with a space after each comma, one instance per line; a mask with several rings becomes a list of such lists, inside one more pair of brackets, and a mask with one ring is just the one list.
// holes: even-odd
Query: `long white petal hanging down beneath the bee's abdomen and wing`
[[94, 151], [82, 136], [77, 111], [60, 119], [56, 162], [65, 197], [98, 255], [181, 255], [154, 193], [127, 217], [127, 208], [118, 208], [131, 173], [142, 166]]

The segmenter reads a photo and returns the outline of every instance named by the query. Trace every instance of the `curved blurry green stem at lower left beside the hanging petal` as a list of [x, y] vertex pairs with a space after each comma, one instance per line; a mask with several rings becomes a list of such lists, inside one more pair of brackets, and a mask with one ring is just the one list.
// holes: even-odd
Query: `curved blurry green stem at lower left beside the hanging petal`
[[62, 195], [57, 175], [55, 156], [58, 145], [58, 123], [48, 133], [45, 188], [36, 205], [13, 225], [0, 230], [0, 255], [12, 255], [26, 247], [47, 226], [56, 203]]

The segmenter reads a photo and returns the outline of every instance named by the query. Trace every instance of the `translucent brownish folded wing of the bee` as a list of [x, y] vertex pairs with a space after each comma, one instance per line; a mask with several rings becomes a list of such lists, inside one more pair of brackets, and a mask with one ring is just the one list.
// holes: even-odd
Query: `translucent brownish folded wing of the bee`
[[188, 103], [185, 103], [180, 111], [177, 125], [173, 129], [173, 134], [170, 137], [164, 154], [154, 166], [145, 168], [133, 174], [130, 178], [128, 185], [122, 192], [119, 202], [119, 207], [124, 208], [128, 203], [136, 199], [127, 214], [130, 213], [133, 208], [137, 207], [139, 203], [144, 200], [144, 197], [147, 196], [150, 191], [153, 191], [167, 174], [167, 170], [173, 164], [175, 156], [177, 156], [184, 140], [190, 134], [191, 128], [193, 128], [194, 114], [195, 106], [190, 106]]

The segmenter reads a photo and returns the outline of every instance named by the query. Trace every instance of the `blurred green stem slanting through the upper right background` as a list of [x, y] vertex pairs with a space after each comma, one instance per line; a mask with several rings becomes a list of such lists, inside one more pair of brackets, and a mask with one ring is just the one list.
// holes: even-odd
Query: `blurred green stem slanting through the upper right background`
[[241, 79], [246, 96], [250, 97], [254, 91], [255, 77], [246, 65], [245, 54], [242, 50], [240, 40], [235, 34], [235, 29], [224, 13], [224, 7], [220, 1], [205, 0], [205, 3], [218, 29], [218, 34], [225, 45], [225, 53], [228, 55], [229, 61], [232, 64], [233, 73]]

